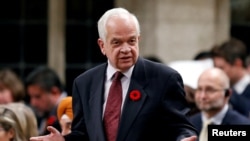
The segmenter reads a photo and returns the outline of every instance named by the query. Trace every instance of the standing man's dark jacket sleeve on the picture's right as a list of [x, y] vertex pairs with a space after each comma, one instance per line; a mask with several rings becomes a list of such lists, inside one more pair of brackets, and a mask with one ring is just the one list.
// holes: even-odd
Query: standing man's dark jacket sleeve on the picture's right
[[166, 83], [166, 92], [163, 98], [166, 111], [173, 117], [168, 118], [170, 123], [169, 132], [173, 134], [173, 140], [181, 140], [185, 137], [197, 135], [197, 130], [187, 117], [189, 112], [188, 103], [185, 99], [183, 81], [178, 73], [173, 73]]

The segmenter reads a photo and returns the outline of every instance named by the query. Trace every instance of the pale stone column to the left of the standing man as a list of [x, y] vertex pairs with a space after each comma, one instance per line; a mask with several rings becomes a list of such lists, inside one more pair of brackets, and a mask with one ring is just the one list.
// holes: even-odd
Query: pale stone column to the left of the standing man
[[48, 65], [65, 82], [65, 0], [48, 1]]

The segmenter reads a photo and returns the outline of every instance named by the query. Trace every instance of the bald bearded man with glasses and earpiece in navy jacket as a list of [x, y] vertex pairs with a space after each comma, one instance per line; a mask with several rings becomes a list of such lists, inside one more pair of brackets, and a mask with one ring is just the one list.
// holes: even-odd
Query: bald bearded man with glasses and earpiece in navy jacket
[[250, 119], [229, 107], [231, 95], [229, 78], [223, 70], [209, 68], [200, 75], [195, 91], [195, 103], [201, 112], [190, 116], [190, 121], [199, 135], [205, 121], [214, 125], [250, 125]]

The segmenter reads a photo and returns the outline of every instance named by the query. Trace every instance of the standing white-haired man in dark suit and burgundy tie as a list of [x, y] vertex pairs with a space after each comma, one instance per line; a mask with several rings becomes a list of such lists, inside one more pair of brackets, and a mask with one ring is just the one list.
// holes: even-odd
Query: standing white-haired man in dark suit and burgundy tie
[[[62, 137], [49, 127], [50, 135], [31, 141], [195, 141], [182, 78], [162, 63], [139, 57], [137, 18], [126, 9], [114, 8], [98, 21], [98, 31], [98, 44], [108, 60], [75, 79], [72, 132]], [[121, 105], [114, 105], [119, 103], [116, 92], [109, 107], [116, 72], [122, 73], [115, 80], [121, 81], [115, 88], [122, 88]]]

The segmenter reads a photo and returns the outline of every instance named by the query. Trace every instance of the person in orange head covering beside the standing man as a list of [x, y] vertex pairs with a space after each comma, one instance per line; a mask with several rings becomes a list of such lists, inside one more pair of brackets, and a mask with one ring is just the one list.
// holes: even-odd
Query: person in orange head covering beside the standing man
[[61, 126], [61, 134], [66, 135], [71, 132], [73, 120], [72, 97], [67, 96], [61, 100], [57, 108], [57, 118]]

